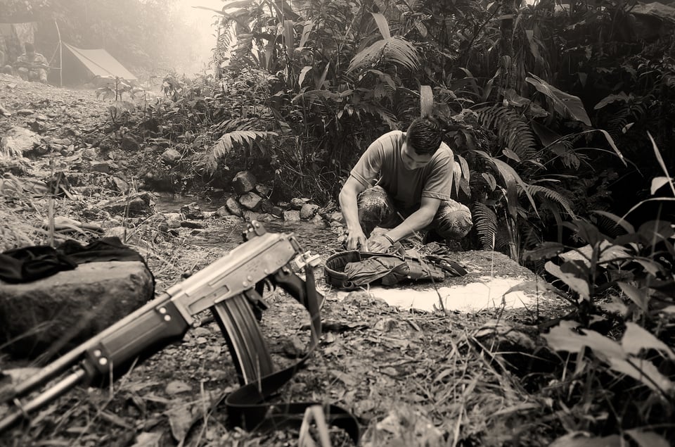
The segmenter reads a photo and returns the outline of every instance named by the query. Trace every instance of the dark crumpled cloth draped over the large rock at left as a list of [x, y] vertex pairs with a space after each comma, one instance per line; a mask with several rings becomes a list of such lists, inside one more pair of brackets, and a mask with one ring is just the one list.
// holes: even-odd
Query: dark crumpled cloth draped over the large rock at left
[[140, 260], [146, 263], [143, 256], [122, 244], [117, 237], [103, 237], [86, 245], [65, 241], [56, 248], [39, 245], [0, 253], [0, 280], [14, 284], [32, 282], [73, 270], [78, 264], [108, 260]]

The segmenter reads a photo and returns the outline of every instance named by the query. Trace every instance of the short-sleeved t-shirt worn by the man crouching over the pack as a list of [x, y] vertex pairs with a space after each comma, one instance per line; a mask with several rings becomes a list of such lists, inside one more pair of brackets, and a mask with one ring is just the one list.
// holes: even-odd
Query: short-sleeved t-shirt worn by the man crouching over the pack
[[401, 160], [404, 137], [404, 132], [394, 130], [376, 139], [349, 173], [366, 188], [375, 182], [383, 187], [397, 210], [407, 217], [418, 210], [422, 197], [450, 199], [454, 156], [441, 143], [429, 163], [409, 170]]

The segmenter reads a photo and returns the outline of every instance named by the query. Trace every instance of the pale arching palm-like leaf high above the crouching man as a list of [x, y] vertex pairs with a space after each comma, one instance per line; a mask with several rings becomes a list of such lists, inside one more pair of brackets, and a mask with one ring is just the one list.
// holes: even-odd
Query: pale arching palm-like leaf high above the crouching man
[[349, 63], [347, 73], [359, 68], [377, 65], [381, 61], [398, 63], [409, 70], [416, 70], [420, 65], [420, 58], [415, 46], [402, 37], [394, 36], [389, 39], [378, 40], [359, 51]]

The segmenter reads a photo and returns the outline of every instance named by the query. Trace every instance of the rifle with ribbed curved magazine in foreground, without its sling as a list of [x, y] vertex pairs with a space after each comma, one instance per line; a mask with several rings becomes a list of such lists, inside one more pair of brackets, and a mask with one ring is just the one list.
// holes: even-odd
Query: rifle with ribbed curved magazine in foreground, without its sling
[[[120, 377], [137, 361], [182, 339], [194, 323], [193, 315], [209, 308], [226, 338], [240, 383], [270, 374], [273, 365], [250, 301], [260, 298], [255, 287], [264, 280], [281, 285], [300, 302], [306, 300], [304, 282], [288, 266], [304, 253], [293, 234], [268, 233], [255, 221], [244, 239], [223, 258], [17, 384], [4, 397], [15, 410], [0, 420], [0, 432], [77, 384], [101, 385]], [[20, 402], [68, 369], [71, 372], [58, 383]]]

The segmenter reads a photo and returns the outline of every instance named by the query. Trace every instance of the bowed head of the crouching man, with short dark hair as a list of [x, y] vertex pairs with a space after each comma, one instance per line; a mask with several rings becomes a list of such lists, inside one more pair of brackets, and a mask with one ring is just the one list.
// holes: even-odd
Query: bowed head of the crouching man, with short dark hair
[[443, 127], [437, 118], [425, 115], [411, 122], [401, 153], [406, 168], [418, 169], [429, 163], [442, 140]]

